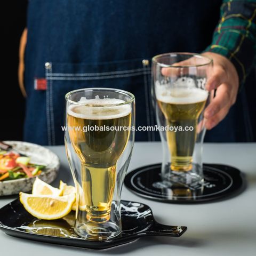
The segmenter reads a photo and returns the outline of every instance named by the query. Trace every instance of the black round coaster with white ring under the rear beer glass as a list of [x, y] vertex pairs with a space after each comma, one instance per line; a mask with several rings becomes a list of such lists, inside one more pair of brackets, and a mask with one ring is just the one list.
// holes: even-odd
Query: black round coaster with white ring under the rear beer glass
[[143, 166], [127, 173], [124, 184], [133, 193], [168, 203], [205, 203], [227, 199], [245, 188], [243, 174], [222, 164], [204, 164], [204, 182], [196, 186], [162, 181], [161, 164]]

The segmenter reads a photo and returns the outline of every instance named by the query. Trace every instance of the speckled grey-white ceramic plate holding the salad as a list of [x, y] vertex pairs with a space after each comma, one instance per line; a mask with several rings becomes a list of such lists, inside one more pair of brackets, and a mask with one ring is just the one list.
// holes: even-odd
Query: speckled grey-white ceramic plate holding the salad
[[[51, 150], [42, 146], [23, 141], [4, 141], [13, 149], [19, 150], [22, 154], [30, 157], [31, 162], [38, 162], [46, 165], [44, 171], [38, 175], [41, 180], [51, 183], [56, 177], [60, 166], [60, 160]], [[22, 178], [17, 180], [0, 181], [0, 196], [15, 195], [31, 190], [35, 178]]]

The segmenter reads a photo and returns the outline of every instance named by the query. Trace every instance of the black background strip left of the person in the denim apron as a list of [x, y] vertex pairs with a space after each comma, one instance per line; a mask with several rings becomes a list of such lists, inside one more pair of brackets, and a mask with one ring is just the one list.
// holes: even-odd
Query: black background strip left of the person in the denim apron
[[[12, 12], [16, 16], [15, 19], [13, 18], [15, 22], [12, 21], [9, 25], [4, 26], [4, 49], [9, 49], [11, 54], [3, 54], [6, 58], [5, 63], [9, 63], [9, 67], [4, 69], [9, 76], [2, 83], [1, 105], [4, 107], [1, 111], [1, 140], [22, 140], [23, 120], [25, 118], [25, 98], [22, 96], [18, 84], [18, 62], [20, 37], [26, 27], [27, 1], [19, 0], [14, 3], [16, 6], [12, 6], [9, 10], [13, 10], [15, 7], [16, 11], [13, 10]], [[9, 27], [10, 24], [13, 24], [12, 28]], [[11, 114], [14, 109], [16, 109], [16, 114]]]

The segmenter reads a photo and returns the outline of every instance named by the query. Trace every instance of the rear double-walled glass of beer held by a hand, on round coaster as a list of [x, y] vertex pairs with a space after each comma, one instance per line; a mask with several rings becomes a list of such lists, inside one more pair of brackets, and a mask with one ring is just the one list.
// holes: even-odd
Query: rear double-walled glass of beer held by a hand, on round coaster
[[163, 145], [162, 177], [171, 185], [203, 182], [202, 144], [205, 89], [212, 60], [194, 53], [166, 53], [153, 58], [153, 101]]

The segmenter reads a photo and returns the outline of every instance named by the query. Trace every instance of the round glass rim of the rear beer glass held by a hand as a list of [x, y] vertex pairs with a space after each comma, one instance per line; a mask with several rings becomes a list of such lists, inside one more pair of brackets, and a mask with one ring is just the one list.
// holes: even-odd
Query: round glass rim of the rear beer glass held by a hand
[[[191, 57], [196, 57], [198, 59], [206, 59], [207, 62], [203, 63], [203, 64], [198, 64], [198, 65], [181, 65], [181, 66], [173, 66], [173, 64], [171, 65], [168, 65], [168, 64], [164, 64], [164, 63], [161, 63], [161, 62], [158, 62], [157, 61], [157, 58], [160, 58], [160, 57], [165, 57], [165, 56], [170, 56], [171, 54], [175, 54], [175, 55], [190, 55]], [[162, 53], [162, 54], [158, 54], [158, 55], [155, 55], [153, 58], [152, 58], [152, 62], [156, 63], [157, 65], [159, 66], [162, 66], [162, 67], [171, 67], [171, 68], [190, 68], [190, 67], [202, 67], [202, 66], [207, 66], [211, 63], [213, 63], [213, 59], [210, 58], [210, 57], [207, 57], [205, 55], [202, 55], [200, 53], [194, 53], [194, 52], [168, 52], [168, 53]]]

